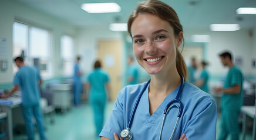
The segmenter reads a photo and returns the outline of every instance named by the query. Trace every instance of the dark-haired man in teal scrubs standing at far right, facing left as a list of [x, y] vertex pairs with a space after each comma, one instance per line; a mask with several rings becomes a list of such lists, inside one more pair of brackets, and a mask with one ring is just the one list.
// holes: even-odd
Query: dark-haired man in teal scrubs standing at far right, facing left
[[224, 88], [214, 88], [215, 92], [223, 92], [221, 97], [221, 131], [219, 139], [227, 139], [230, 135], [232, 140], [239, 139], [238, 115], [243, 103], [242, 81], [240, 69], [234, 66], [231, 54], [220, 54], [221, 62], [230, 68], [225, 78]]

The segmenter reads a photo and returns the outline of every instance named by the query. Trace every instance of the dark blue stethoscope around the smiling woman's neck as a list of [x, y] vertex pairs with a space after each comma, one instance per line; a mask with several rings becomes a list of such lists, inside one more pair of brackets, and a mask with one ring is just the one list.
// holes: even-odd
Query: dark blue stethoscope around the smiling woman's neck
[[[181, 94], [181, 92], [182, 92], [182, 90], [183, 90], [184, 78], [183, 78], [182, 75], [180, 75], [180, 78], [181, 78], [181, 84], [180, 84], [180, 88], [178, 89], [177, 96], [175, 97], [175, 99], [171, 100], [171, 101], [167, 104], [166, 108], [164, 109], [164, 117], [163, 117], [163, 121], [162, 121], [162, 124], [161, 124], [159, 140], [161, 139], [161, 133], [162, 133], [162, 130], [163, 130], [164, 121], [165, 121], [165, 119], [166, 119], [166, 115], [168, 114], [169, 110], [170, 110], [171, 108], [173, 108], [173, 107], [177, 107], [177, 108], [178, 108], [177, 121], [176, 121], [176, 124], [175, 124], [175, 126], [174, 126], [173, 132], [171, 133], [170, 139], [173, 137], [173, 134], [174, 134], [174, 132], [176, 131], [178, 121], [180, 120], [181, 114], [182, 114], [182, 112], [183, 112], [183, 105], [182, 105], [182, 103], [181, 103], [181, 101], [180, 101], [179, 98], [180, 98], [180, 94]], [[137, 100], [136, 100], [136, 103], [135, 103], [135, 105], [134, 105], [134, 107], [133, 107], [132, 115], [131, 115], [130, 120], [129, 120], [128, 127], [127, 127], [126, 129], [123, 129], [123, 130], [121, 131], [121, 136], [122, 136], [122, 138], [124, 138], [124, 139], [126, 139], [126, 140], [130, 140], [130, 139], [133, 138], [133, 134], [132, 134], [132, 132], [130, 132], [129, 130], [130, 130], [131, 126], [132, 126], [134, 114], [135, 114], [135, 111], [136, 111], [136, 109], [137, 109], [137, 107], [138, 107], [140, 98], [142, 97], [142, 95], [143, 95], [144, 91], [146, 90], [147, 86], [149, 85], [149, 83], [150, 83], [150, 80], [146, 83], [146, 85], [145, 85], [144, 88], [142, 89], [142, 92], [140, 92], [140, 95], [139, 95], [139, 97], [138, 97]], [[177, 104], [174, 104], [174, 103], [179, 104], [179, 106], [178, 106]]]

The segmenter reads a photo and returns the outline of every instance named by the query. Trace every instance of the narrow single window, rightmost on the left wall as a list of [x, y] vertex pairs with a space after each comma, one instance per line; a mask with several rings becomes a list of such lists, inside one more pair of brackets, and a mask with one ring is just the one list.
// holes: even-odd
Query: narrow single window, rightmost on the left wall
[[60, 56], [62, 60], [62, 74], [71, 76], [73, 74], [73, 39], [70, 36], [60, 38]]

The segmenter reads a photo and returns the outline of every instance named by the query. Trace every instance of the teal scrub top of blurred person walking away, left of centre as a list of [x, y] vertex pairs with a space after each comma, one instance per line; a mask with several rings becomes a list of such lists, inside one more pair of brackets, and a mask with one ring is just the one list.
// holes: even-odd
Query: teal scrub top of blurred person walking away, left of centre
[[106, 71], [97, 68], [89, 74], [87, 80], [90, 83], [91, 96], [106, 95], [105, 83], [109, 82], [109, 75]]

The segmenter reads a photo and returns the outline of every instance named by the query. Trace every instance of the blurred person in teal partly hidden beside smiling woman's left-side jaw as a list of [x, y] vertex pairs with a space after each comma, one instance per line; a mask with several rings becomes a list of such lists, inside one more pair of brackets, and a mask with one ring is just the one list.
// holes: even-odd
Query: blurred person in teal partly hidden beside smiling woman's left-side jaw
[[133, 62], [133, 57], [128, 58], [128, 77], [127, 77], [127, 82], [128, 85], [134, 85], [139, 83], [139, 71], [137, 66]]

